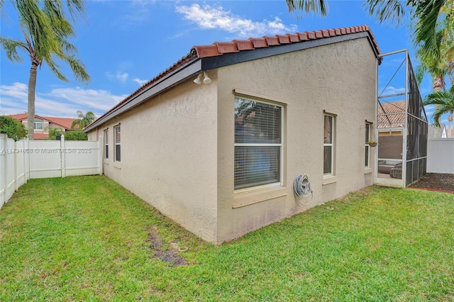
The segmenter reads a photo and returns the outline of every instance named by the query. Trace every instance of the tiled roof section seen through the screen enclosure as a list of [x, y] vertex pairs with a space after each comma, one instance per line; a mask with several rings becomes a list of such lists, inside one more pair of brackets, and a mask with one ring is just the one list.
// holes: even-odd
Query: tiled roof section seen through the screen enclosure
[[[404, 127], [405, 101], [381, 102], [377, 106], [378, 128]], [[387, 114], [387, 115], [384, 115]]]

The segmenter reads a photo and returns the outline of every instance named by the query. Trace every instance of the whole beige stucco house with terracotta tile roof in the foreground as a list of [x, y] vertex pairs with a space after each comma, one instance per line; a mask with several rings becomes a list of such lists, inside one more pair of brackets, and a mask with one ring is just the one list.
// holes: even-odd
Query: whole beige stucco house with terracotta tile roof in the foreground
[[84, 131], [107, 177], [220, 244], [374, 184], [379, 55], [368, 26], [194, 46]]

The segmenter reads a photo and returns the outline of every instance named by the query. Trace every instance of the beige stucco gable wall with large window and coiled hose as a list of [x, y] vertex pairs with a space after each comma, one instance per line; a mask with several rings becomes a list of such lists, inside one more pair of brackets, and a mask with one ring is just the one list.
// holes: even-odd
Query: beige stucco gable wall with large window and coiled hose
[[[216, 242], [370, 186], [375, 149], [365, 169], [365, 121], [375, 130], [376, 64], [366, 38], [218, 69], [218, 233]], [[235, 194], [236, 93], [284, 104], [284, 182], [281, 187]], [[335, 176], [323, 177], [323, 111], [336, 115]], [[309, 175], [310, 206], [294, 200], [293, 180]], [[242, 206], [243, 204], [248, 204]]]

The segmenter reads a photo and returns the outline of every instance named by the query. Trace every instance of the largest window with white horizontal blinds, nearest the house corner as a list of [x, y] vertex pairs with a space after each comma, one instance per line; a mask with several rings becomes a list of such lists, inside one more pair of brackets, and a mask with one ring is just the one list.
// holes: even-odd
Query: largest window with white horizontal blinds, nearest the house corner
[[235, 98], [235, 189], [281, 183], [282, 106]]

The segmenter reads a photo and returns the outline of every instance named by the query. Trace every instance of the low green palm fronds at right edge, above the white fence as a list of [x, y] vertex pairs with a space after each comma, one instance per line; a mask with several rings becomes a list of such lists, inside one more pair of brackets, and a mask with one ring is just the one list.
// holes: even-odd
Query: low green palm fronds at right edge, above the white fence
[[[450, 86], [447, 91], [434, 91], [428, 94], [424, 99], [424, 106], [435, 105], [435, 111], [433, 112], [433, 124], [436, 127], [440, 127], [441, 116], [445, 113], [449, 113], [448, 116], [448, 129], [451, 129], [451, 122], [453, 121], [454, 112], [454, 85]], [[450, 131], [451, 132], [451, 131]]]

